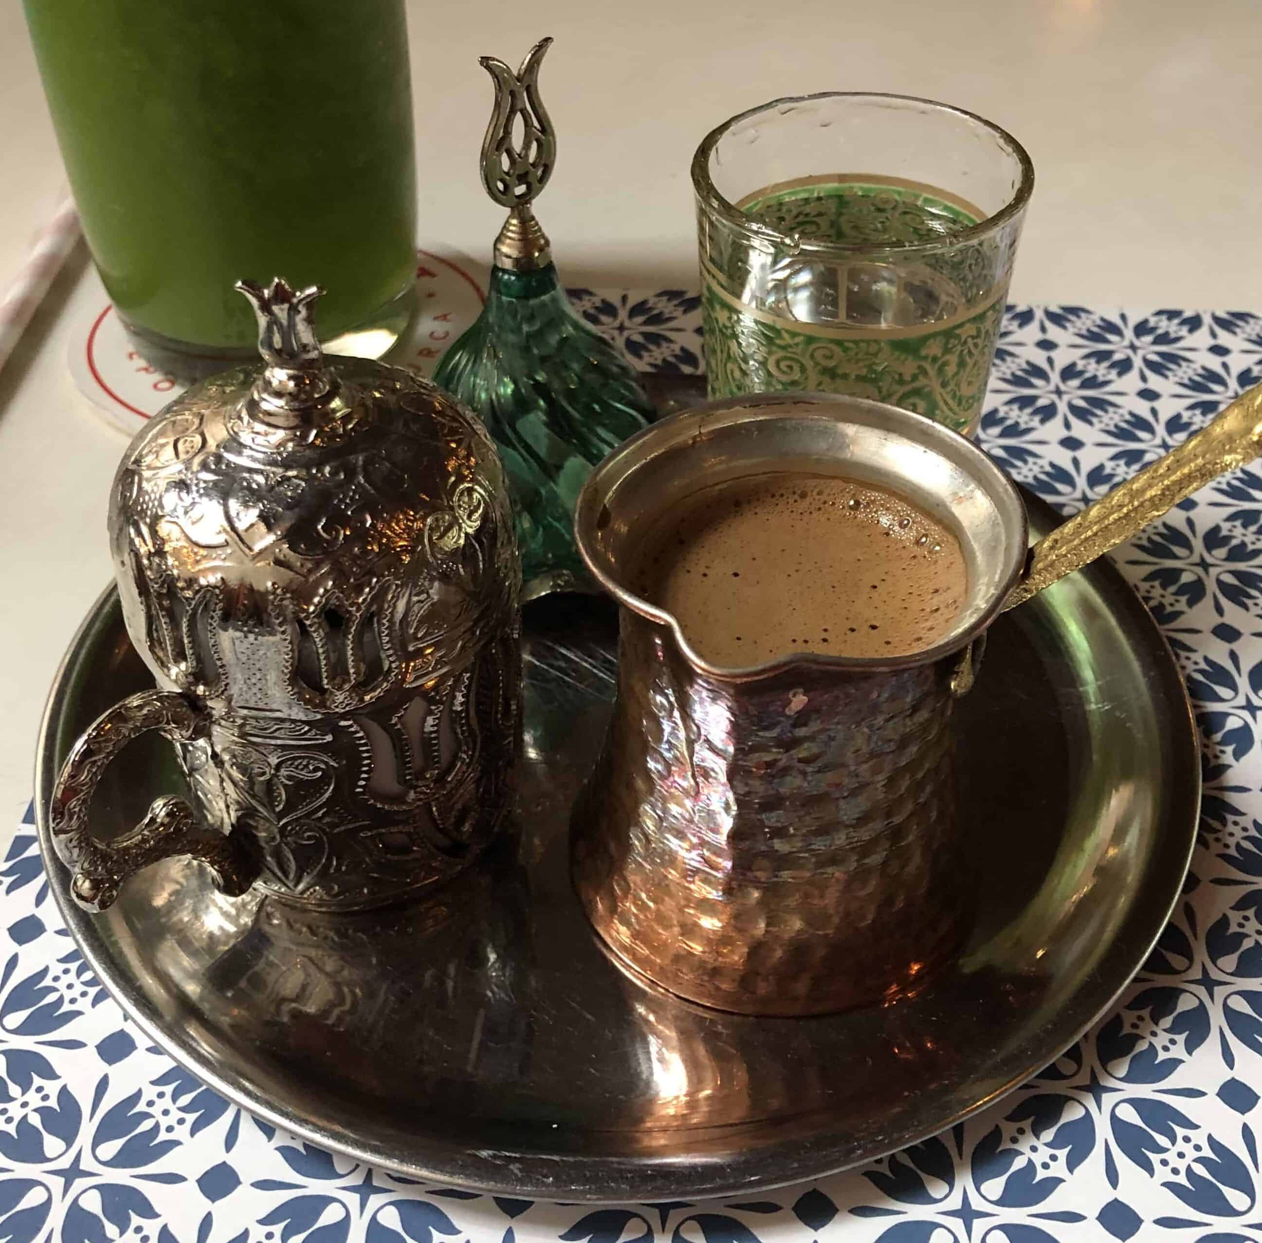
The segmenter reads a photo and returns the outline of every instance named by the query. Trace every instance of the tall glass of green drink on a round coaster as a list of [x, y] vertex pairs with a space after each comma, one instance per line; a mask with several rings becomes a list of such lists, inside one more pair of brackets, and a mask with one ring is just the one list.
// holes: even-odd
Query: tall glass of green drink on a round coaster
[[334, 348], [380, 355], [413, 295], [403, 0], [25, 0], [97, 269], [150, 361], [252, 353], [232, 285], [321, 284]]

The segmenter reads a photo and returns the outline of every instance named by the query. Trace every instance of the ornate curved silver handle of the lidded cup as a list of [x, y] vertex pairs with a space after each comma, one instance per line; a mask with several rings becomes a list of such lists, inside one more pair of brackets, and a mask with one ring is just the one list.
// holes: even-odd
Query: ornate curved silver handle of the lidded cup
[[236, 896], [250, 887], [254, 869], [240, 847], [202, 827], [183, 799], [155, 799], [131, 832], [109, 843], [93, 838], [88, 827], [96, 785], [133, 738], [156, 729], [173, 742], [192, 742], [207, 727], [206, 714], [183, 695], [143, 690], [97, 717], [74, 743], [57, 779], [48, 819], [58, 858], [74, 873], [71, 895], [85, 910], [103, 911], [127, 877], [175, 854], [209, 867], [225, 893]]

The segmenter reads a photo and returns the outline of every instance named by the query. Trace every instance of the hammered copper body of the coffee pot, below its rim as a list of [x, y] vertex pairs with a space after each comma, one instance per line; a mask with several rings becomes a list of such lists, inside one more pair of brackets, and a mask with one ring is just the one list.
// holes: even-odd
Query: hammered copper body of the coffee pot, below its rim
[[723, 680], [622, 610], [573, 825], [596, 930], [663, 987], [809, 1015], [914, 989], [964, 931], [949, 669]]

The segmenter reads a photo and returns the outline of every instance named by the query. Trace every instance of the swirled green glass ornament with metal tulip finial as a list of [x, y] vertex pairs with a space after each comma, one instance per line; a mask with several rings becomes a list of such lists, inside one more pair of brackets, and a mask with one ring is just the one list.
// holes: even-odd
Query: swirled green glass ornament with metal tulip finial
[[481, 59], [495, 81], [482, 184], [509, 218], [495, 241], [486, 307], [434, 375], [500, 448], [526, 599], [589, 586], [574, 548], [574, 501], [592, 467], [652, 418], [635, 368], [570, 305], [530, 207], [557, 151], [539, 100], [539, 63], [550, 43], [536, 43], [517, 73], [495, 57]]

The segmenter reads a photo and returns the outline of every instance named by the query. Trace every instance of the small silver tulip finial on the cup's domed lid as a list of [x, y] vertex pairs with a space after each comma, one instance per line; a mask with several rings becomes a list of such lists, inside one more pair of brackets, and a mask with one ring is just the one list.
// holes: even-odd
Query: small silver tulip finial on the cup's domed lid
[[255, 413], [271, 423], [284, 411], [324, 405], [337, 390], [316, 336], [313, 307], [324, 290], [294, 289], [280, 276], [266, 288], [252, 280], [239, 280], [235, 288], [250, 299], [259, 321], [259, 353], [268, 363], [251, 391]]

